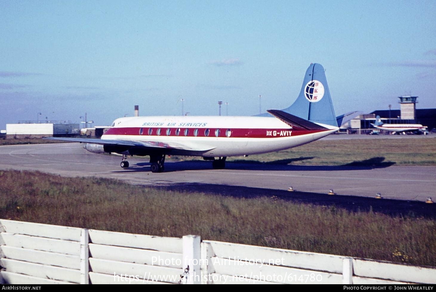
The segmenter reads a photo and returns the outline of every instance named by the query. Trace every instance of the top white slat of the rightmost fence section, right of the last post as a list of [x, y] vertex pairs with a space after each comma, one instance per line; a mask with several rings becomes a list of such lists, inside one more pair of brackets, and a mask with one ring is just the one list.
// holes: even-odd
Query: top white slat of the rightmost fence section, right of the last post
[[390, 281], [436, 284], [436, 268], [353, 259], [354, 275]]

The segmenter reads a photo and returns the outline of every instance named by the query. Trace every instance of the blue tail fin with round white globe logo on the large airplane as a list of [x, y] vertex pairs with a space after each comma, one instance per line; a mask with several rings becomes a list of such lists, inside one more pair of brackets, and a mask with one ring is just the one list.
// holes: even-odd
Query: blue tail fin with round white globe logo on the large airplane
[[324, 67], [310, 64], [304, 76], [300, 95], [296, 101], [283, 112], [288, 112], [311, 122], [319, 122], [337, 127], [330, 90]]

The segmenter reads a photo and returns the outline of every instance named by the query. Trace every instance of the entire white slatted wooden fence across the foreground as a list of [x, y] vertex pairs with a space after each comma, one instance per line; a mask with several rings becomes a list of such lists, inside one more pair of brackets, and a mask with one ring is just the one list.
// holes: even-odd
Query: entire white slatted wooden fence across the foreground
[[436, 268], [0, 219], [0, 283], [436, 284]]

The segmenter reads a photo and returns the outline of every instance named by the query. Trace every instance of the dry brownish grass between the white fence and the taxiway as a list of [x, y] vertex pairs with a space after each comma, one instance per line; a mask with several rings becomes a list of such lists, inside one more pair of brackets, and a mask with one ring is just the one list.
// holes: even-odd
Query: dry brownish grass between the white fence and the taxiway
[[0, 198], [3, 219], [436, 266], [436, 221], [423, 217], [19, 171], [0, 171]]

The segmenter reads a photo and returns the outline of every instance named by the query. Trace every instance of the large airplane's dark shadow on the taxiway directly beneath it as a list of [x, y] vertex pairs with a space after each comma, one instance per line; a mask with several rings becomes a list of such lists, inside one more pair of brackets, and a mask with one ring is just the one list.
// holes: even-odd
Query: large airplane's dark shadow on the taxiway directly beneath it
[[[301, 160], [309, 160], [313, 157], [299, 157], [292, 159], [282, 159], [271, 162], [259, 162], [256, 160], [236, 160], [229, 161], [225, 165], [227, 170], [262, 170], [262, 171], [340, 171], [340, 170], [372, 170], [376, 168], [386, 168], [395, 162], [385, 161], [385, 157], [373, 157], [367, 160], [353, 161], [343, 165], [290, 165], [289, 163]], [[204, 160], [186, 160], [165, 163], [165, 172], [183, 170], [212, 170], [212, 163]], [[150, 171], [150, 163], [140, 162], [132, 167], [115, 172], [141, 172]]]

